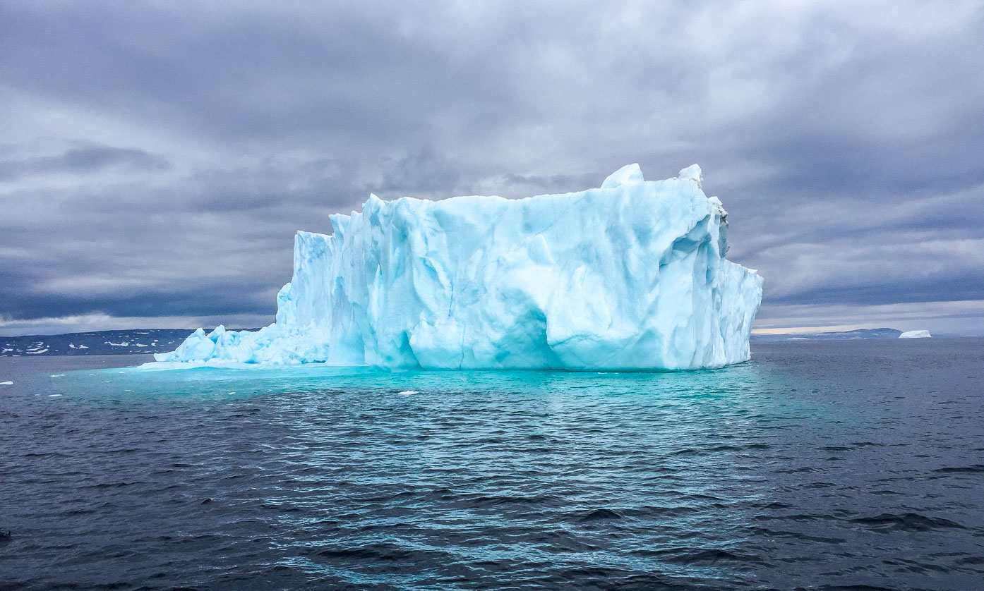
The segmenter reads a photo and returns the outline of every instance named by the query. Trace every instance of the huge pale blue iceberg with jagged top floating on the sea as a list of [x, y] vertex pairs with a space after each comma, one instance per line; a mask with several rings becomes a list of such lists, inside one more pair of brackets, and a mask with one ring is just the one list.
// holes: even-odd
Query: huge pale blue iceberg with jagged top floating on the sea
[[[375, 195], [297, 232], [277, 322], [199, 328], [158, 362], [666, 371], [749, 359], [762, 277], [724, 259], [696, 164], [520, 200]], [[156, 365], [156, 364], [155, 364]]]

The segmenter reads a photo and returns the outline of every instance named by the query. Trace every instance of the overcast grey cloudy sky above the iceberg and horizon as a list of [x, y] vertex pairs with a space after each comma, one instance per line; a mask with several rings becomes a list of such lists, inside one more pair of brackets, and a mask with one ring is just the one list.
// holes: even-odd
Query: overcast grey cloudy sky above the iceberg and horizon
[[0, 3], [0, 334], [273, 322], [295, 230], [704, 169], [758, 331], [984, 334], [984, 3]]

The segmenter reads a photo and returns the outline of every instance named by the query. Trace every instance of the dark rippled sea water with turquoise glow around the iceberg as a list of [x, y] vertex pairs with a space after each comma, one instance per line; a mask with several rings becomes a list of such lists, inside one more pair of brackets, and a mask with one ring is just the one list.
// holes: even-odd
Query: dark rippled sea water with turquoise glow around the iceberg
[[984, 340], [754, 350], [652, 375], [3, 358], [0, 588], [984, 587]]

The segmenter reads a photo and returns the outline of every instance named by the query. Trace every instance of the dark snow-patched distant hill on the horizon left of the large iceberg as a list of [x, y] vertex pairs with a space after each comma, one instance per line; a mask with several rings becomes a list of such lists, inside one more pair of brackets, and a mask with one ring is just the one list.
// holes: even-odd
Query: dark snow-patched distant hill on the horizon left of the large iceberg
[[193, 331], [190, 328], [144, 328], [0, 336], [0, 357], [163, 353], [173, 351]]

